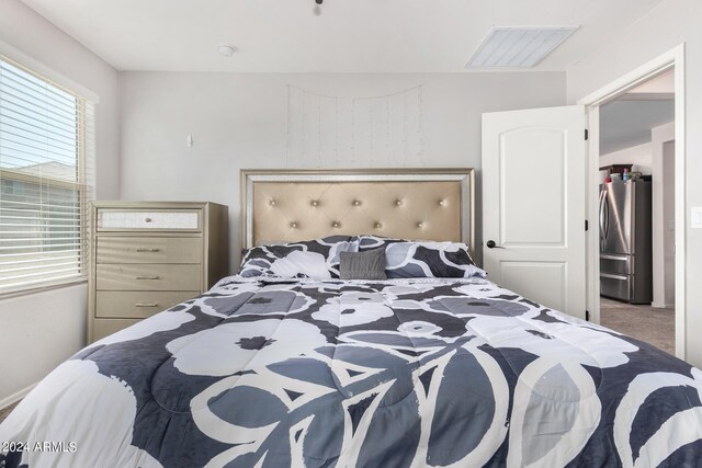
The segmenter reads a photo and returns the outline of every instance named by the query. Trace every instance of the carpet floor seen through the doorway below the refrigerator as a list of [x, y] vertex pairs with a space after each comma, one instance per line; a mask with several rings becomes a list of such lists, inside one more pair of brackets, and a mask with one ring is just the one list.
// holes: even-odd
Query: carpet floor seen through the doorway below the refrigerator
[[601, 298], [600, 324], [676, 354], [676, 310]]

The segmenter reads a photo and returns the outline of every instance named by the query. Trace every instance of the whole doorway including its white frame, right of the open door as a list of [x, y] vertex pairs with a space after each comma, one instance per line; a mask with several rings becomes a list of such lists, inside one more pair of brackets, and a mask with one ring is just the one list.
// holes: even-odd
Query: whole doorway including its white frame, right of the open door
[[[683, 55], [684, 46], [680, 45], [580, 101], [588, 106], [592, 136], [588, 167], [588, 217], [595, 225], [588, 237], [590, 317], [681, 358], [686, 336]], [[623, 116], [626, 113], [629, 118]], [[647, 135], [646, 140], [632, 139], [631, 135], [627, 140], [625, 134], [634, 130], [639, 138]], [[624, 169], [626, 178], [634, 180], [621, 180]], [[636, 190], [639, 195], [649, 191], [649, 201], [644, 196], [634, 208], [631, 190], [624, 191], [627, 185], [642, 189]], [[615, 231], [614, 237], [632, 241], [624, 233], [625, 216], [610, 210], [609, 218], [607, 212], [604, 218], [600, 217], [603, 196], [609, 202], [627, 199], [629, 209], [649, 213], [648, 228], [631, 228], [641, 235], [635, 237], [649, 237], [637, 252], [620, 252], [612, 246], [603, 249], [607, 228]], [[609, 225], [603, 233], [601, 225], [605, 220]], [[648, 260], [641, 258], [645, 250], [650, 252]], [[636, 295], [634, 283], [638, 285]]]

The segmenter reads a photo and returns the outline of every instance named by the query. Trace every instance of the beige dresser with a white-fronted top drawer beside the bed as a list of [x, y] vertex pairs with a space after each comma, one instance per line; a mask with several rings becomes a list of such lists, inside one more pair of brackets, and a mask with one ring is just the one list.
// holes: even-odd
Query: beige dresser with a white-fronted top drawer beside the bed
[[206, 292], [229, 267], [228, 208], [94, 202], [88, 343]]

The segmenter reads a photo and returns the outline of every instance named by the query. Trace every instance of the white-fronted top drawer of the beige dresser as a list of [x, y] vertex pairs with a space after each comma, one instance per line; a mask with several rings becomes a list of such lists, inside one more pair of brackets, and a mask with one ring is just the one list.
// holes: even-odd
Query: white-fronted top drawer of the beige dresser
[[191, 231], [202, 230], [200, 209], [98, 209], [99, 231], [148, 230]]

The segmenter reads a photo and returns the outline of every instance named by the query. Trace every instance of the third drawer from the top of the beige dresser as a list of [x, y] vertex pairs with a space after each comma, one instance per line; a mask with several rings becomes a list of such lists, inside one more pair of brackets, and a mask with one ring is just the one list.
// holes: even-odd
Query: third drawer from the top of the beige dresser
[[199, 264], [102, 263], [97, 266], [97, 289], [201, 290]]

